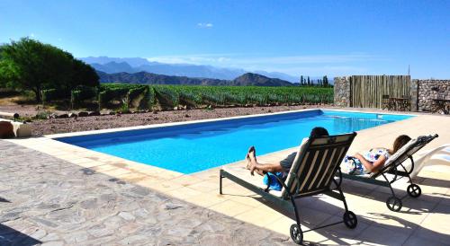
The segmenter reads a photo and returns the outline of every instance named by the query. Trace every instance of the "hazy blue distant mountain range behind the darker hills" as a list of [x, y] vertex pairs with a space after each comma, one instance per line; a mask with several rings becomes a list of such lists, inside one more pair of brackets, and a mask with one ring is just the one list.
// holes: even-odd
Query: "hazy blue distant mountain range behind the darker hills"
[[[193, 78], [211, 78], [233, 80], [249, 71], [236, 68], [191, 64], [165, 64], [148, 61], [141, 57], [82, 57], [81, 60], [93, 66], [95, 70], [107, 74], [148, 72], [157, 75], [187, 76]], [[278, 78], [291, 83], [298, 83], [299, 78], [277, 72], [254, 71], [258, 75]]]

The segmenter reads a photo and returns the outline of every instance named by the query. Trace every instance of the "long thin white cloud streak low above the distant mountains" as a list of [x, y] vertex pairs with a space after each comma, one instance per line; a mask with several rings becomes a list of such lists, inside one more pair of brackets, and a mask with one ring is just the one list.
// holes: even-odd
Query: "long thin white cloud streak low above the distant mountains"
[[365, 62], [385, 61], [385, 57], [369, 54], [261, 56], [246, 54], [196, 54], [148, 57], [148, 61], [169, 64], [208, 65], [240, 68], [247, 71], [264, 70], [289, 75], [349, 75], [368, 71]]

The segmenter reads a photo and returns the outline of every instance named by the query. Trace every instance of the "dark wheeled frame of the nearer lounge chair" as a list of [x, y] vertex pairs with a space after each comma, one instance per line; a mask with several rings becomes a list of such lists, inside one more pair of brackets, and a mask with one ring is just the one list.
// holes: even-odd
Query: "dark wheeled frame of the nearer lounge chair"
[[[351, 143], [353, 142], [356, 133], [352, 133], [352, 134], [348, 134], [348, 140], [346, 143], [339, 143], [339, 145], [343, 145], [343, 154], [341, 157], [336, 158], [336, 163], [332, 163], [333, 160], [329, 160], [329, 165], [332, 165], [334, 168], [334, 171], [332, 171], [331, 173], [334, 173], [335, 171], [338, 171], [338, 173], [341, 173], [340, 171], [340, 167], [339, 164], [342, 162], [342, 159], [344, 158], [345, 154], [348, 151], [348, 148], [350, 147]], [[329, 138], [329, 142], [328, 142], [328, 146], [330, 145], [330, 142], [333, 142], [333, 139], [336, 139], [336, 136], [326, 136], [327, 138]], [[320, 138], [320, 137], [319, 137]], [[321, 137], [321, 138], [325, 138], [325, 137]], [[314, 138], [316, 139], [316, 138]], [[306, 152], [308, 152], [310, 150], [311, 147], [311, 142], [313, 141], [313, 139], [310, 139], [305, 145], [305, 149], [304, 151], [302, 151], [302, 153], [300, 153], [299, 156], [299, 162], [303, 162], [302, 160], [305, 158], [305, 154]], [[332, 145], [332, 144], [331, 144]], [[323, 151], [325, 150], [325, 147], [318, 147], [318, 146], [314, 146], [316, 151]], [[333, 156], [333, 155], [332, 155]], [[308, 157], [308, 156], [307, 156]], [[332, 158], [332, 157], [331, 157]], [[305, 160], [306, 161], [306, 160]], [[304, 162], [303, 162], [304, 163]], [[293, 165], [294, 166], [294, 165]], [[300, 164], [298, 164], [297, 166], [300, 166]], [[310, 164], [311, 166], [311, 164]], [[299, 167], [298, 167], [299, 168]], [[311, 168], [311, 167], [310, 167]], [[306, 168], [304, 169], [306, 171]], [[298, 171], [298, 170], [297, 170]], [[303, 171], [303, 172], [305, 172]], [[258, 195], [260, 195], [262, 198], [265, 198], [267, 201], [275, 204], [276, 206], [279, 206], [281, 208], [283, 208], [285, 211], [292, 211], [294, 212], [295, 215], [295, 220], [296, 220], [296, 224], [292, 224], [291, 225], [291, 237], [293, 239], [293, 242], [296, 242], [298, 244], [302, 243], [303, 240], [303, 233], [307, 233], [310, 232], [312, 230], [317, 230], [320, 228], [324, 228], [330, 225], [335, 225], [335, 224], [340, 224], [340, 223], [344, 223], [347, 225], [348, 228], [355, 228], [356, 224], [357, 224], [357, 219], [356, 219], [356, 215], [348, 210], [348, 206], [347, 206], [347, 201], [346, 198], [344, 196], [344, 193], [342, 192], [341, 189], [341, 182], [338, 182], [334, 179], [334, 175], [329, 175], [329, 177], [326, 177], [325, 179], [328, 180], [324, 180], [325, 185], [324, 186], [320, 186], [319, 188], [315, 189], [315, 190], [311, 190], [311, 192], [307, 192], [307, 193], [302, 193], [302, 191], [300, 190], [300, 184], [302, 184], [302, 180], [300, 179], [300, 177], [303, 177], [302, 173], [299, 172], [301, 175], [297, 175], [296, 171], [293, 171], [293, 168], [291, 169], [291, 175], [293, 175], [293, 179], [295, 181], [292, 181], [291, 184], [295, 184], [292, 186], [286, 184], [283, 180], [280, 180], [280, 178], [278, 178], [276, 175], [274, 175], [274, 177], [283, 185], [284, 190], [286, 192], [285, 196], [282, 197], [276, 197], [270, 193], [268, 193], [268, 187], [267, 189], [261, 189], [260, 187], [257, 187], [249, 182], [247, 182], [246, 180], [241, 180], [240, 178], [234, 176], [232, 173], [229, 173], [228, 171], [225, 171], [223, 169], [220, 169], [220, 180], [219, 180], [219, 192], [220, 195], [222, 194], [222, 179], [223, 178], [227, 178], [231, 181], [234, 181], [235, 183], [237, 183], [238, 185], [249, 189], [255, 193], [257, 193]], [[327, 173], [323, 174], [324, 177], [327, 176]], [[306, 178], [308, 179], [308, 177]], [[341, 179], [342, 180], [342, 179]], [[331, 188], [331, 183], [334, 183], [334, 185], [336, 186], [335, 188]], [[311, 184], [311, 183], [310, 183]], [[308, 186], [308, 185], [306, 185]], [[292, 190], [294, 190], [294, 192], [292, 192]], [[300, 219], [300, 215], [298, 212], [298, 207], [295, 204], [295, 201], [299, 198], [306, 198], [306, 197], [311, 197], [311, 196], [315, 196], [315, 195], [319, 195], [319, 194], [325, 194], [331, 198], [336, 198], [338, 200], [341, 200], [344, 203], [344, 207], [346, 212], [343, 215], [343, 220], [336, 222], [336, 223], [332, 223], [332, 224], [325, 224], [319, 227], [315, 227], [312, 228], [310, 230], [307, 231], [302, 231], [301, 229], [301, 219]]]

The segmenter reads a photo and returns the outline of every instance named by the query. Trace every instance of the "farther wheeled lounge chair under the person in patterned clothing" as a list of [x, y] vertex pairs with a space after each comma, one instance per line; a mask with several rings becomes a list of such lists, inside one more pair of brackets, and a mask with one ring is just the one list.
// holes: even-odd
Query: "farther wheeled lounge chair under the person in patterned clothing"
[[[384, 166], [380, 171], [365, 175], [338, 173], [340, 177], [339, 183], [342, 181], [342, 178], [344, 178], [389, 187], [392, 192], [392, 197], [389, 197], [386, 200], [386, 206], [388, 206], [388, 208], [394, 212], [399, 212], [401, 210], [401, 206], [403, 206], [401, 200], [403, 198], [406, 198], [407, 196], [404, 196], [402, 198], [397, 197], [394, 190], [392, 189], [392, 183], [400, 180], [401, 178], [407, 177], [410, 180], [410, 185], [406, 189], [408, 195], [410, 195], [411, 198], [419, 198], [422, 190], [420, 189], [419, 185], [412, 182], [410, 177], [410, 174], [414, 171], [414, 159], [412, 158], [412, 155], [418, 152], [419, 149], [427, 145], [436, 137], [437, 135], [430, 135], [419, 136], [416, 139], [411, 139], [410, 142], [401, 147], [401, 149], [397, 151], [397, 153], [393, 154], [386, 161], [386, 163], [384, 163]], [[403, 164], [403, 162], [405, 162], [407, 159], [410, 159], [409, 169], [407, 169]], [[381, 179], [381, 177], [383, 177], [383, 179]]]

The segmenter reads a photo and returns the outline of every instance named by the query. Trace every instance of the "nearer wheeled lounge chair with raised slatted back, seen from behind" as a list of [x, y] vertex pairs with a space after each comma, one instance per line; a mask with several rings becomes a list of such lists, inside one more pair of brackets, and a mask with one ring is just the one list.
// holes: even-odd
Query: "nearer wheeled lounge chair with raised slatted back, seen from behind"
[[[339, 164], [347, 154], [347, 150], [355, 136], [356, 133], [320, 136], [306, 141], [297, 152], [287, 179], [285, 181], [278, 180], [283, 185], [281, 191], [268, 189], [269, 186], [263, 184], [261, 176], [251, 176], [249, 171], [243, 166], [224, 166], [220, 170], [220, 194], [222, 194], [222, 179], [228, 178], [273, 202], [275, 205], [281, 206], [288, 211], [293, 209], [296, 224], [291, 225], [290, 233], [293, 242], [299, 244], [302, 243], [303, 232], [300, 224], [300, 215], [295, 205], [295, 200], [298, 198], [325, 194], [343, 201], [346, 209], [343, 221], [333, 224], [343, 222], [348, 228], [353, 229], [357, 224], [356, 215], [348, 210], [346, 198], [338, 182], [334, 179], [334, 173], [340, 169]], [[335, 183], [335, 189], [338, 191], [331, 189], [331, 183]], [[323, 225], [311, 230], [333, 224]], [[305, 231], [305, 233], [311, 230]]]

